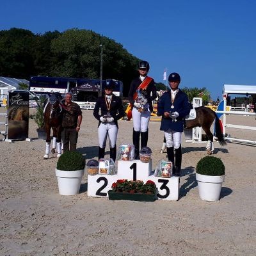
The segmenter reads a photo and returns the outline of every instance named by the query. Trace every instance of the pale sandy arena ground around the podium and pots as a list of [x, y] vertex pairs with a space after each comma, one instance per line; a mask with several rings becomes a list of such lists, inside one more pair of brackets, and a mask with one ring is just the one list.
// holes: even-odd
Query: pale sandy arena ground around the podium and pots
[[[254, 116], [228, 120], [256, 125]], [[159, 125], [149, 125], [153, 166], [166, 157], [159, 153]], [[119, 127], [117, 145], [131, 143], [132, 122], [122, 120]], [[256, 140], [255, 131], [227, 132]], [[36, 136], [31, 121], [29, 137]], [[220, 201], [200, 200], [195, 166], [206, 156], [205, 143], [186, 143], [183, 136], [179, 201], [132, 202], [88, 198], [87, 174], [79, 195], [61, 196], [54, 173], [56, 154], [43, 160], [45, 141], [0, 141], [0, 255], [256, 255], [256, 148], [214, 145], [214, 156], [226, 166]], [[97, 159], [92, 111], [83, 111], [77, 148], [86, 159]]]

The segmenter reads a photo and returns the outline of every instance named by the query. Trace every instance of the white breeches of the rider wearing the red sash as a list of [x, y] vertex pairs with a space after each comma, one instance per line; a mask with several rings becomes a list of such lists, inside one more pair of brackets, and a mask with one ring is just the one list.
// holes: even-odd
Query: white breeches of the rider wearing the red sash
[[139, 112], [138, 108], [133, 107], [132, 108], [132, 122], [133, 122], [133, 128], [136, 132], [147, 132], [148, 131], [148, 123], [150, 119], [150, 110], [149, 110], [149, 104], [147, 103], [145, 105], [146, 110]]

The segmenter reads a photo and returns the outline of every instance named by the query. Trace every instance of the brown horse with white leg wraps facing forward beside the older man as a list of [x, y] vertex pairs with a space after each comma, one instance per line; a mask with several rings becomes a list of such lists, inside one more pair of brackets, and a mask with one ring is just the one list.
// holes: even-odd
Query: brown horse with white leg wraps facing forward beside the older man
[[[49, 158], [50, 144], [51, 144], [51, 129], [53, 131], [53, 137], [57, 138], [57, 157], [61, 156], [61, 120], [62, 120], [62, 106], [61, 104], [61, 94], [52, 93], [48, 95], [48, 98], [45, 100], [44, 106], [44, 125], [46, 132], [46, 148], [44, 159]], [[54, 152], [54, 151], [53, 151]]]

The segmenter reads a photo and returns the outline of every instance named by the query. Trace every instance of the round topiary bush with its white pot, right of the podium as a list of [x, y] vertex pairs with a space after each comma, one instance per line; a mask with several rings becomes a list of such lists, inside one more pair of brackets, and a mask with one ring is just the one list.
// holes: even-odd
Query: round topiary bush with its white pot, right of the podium
[[200, 159], [196, 164], [196, 180], [200, 198], [207, 201], [218, 201], [224, 177], [225, 166], [220, 158], [205, 156]]

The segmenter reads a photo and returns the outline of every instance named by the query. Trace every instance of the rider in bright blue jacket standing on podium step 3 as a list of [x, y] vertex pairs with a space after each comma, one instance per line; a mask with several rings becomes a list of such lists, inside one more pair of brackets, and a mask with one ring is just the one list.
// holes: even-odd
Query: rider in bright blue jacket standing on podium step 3
[[[168, 77], [171, 90], [163, 93], [157, 102], [158, 115], [162, 116], [160, 130], [164, 131], [168, 160], [173, 163], [173, 175], [180, 177], [181, 171], [181, 133], [184, 117], [189, 115], [188, 95], [179, 89], [180, 75], [171, 73]], [[175, 149], [175, 161], [174, 150]]]

